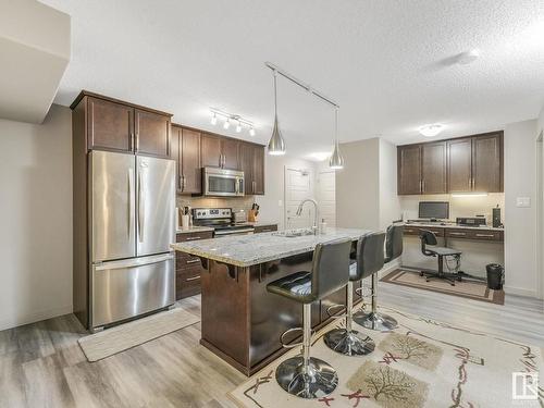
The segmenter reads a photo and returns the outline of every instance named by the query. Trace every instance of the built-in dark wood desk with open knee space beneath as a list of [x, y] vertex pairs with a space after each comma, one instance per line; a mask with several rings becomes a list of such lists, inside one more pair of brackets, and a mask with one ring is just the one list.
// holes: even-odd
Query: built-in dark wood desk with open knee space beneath
[[479, 277], [485, 277], [485, 265], [504, 264], [504, 228], [492, 226], [462, 226], [440, 223], [405, 223], [404, 252], [401, 265], [411, 269], [436, 270], [436, 258], [421, 254], [419, 233], [429, 230], [436, 234], [440, 246], [462, 251], [461, 270]]

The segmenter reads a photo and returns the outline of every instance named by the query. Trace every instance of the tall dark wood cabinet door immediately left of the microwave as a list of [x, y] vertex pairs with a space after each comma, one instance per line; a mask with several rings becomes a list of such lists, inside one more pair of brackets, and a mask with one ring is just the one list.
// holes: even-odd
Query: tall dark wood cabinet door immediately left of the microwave
[[200, 132], [182, 129], [182, 175], [183, 193], [202, 193], [202, 171], [200, 165]]

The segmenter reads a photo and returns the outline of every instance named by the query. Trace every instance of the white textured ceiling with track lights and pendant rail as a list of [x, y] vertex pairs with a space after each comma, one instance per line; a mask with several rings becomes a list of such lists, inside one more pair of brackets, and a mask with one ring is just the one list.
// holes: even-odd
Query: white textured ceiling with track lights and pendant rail
[[[434, 122], [446, 125], [440, 137], [491, 131], [535, 118], [544, 102], [541, 0], [44, 2], [72, 15], [61, 104], [85, 88], [222, 131], [209, 122], [214, 107], [256, 122], [254, 139], [264, 143], [273, 121], [264, 61], [339, 103], [341, 141], [415, 141]], [[471, 48], [480, 59], [456, 64]], [[290, 152], [330, 149], [330, 107], [280, 79], [279, 110]]]

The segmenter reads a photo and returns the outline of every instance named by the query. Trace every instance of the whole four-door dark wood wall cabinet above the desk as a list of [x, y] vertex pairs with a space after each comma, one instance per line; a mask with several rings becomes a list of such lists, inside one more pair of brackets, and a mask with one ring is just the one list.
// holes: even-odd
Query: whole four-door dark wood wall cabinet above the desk
[[503, 193], [504, 134], [397, 147], [399, 195]]

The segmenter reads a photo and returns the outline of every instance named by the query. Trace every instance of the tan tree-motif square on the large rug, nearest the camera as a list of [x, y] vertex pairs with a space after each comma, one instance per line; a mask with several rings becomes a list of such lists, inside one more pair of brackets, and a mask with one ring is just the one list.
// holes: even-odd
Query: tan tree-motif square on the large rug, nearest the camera
[[366, 361], [347, 382], [349, 390], [370, 395], [387, 408], [422, 407], [428, 385], [407, 373], [375, 361]]

